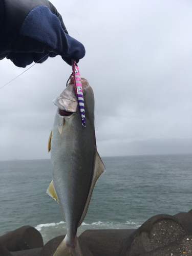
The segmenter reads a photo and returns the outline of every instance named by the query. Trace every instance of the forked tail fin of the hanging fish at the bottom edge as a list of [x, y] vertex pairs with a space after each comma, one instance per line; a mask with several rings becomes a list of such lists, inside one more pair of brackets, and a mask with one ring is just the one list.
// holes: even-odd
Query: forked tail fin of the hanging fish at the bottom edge
[[75, 243], [70, 245], [67, 243], [67, 235], [65, 239], [62, 240], [58, 248], [56, 249], [53, 256], [83, 256], [79, 246], [77, 237], [75, 237]]

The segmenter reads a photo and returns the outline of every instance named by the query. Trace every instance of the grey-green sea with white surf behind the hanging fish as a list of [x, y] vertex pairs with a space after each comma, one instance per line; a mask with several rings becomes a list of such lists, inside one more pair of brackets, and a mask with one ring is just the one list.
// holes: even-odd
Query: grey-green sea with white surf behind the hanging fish
[[[103, 157], [78, 235], [86, 229], [136, 229], [157, 214], [192, 208], [192, 155]], [[44, 243], [66, 233], [61, 209], [46, 190], [51, 160], [0, 162], [0, 234], [24, 225], [40, 231]]]

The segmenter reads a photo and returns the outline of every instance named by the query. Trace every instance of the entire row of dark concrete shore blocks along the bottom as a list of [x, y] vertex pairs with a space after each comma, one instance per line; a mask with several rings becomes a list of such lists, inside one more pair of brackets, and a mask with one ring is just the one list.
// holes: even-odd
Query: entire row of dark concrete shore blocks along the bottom
[[[35, 228], [23, 226], [0, 236], [0, 256], [52, 256], [64, 238], [43, 245]], [[192, 210], [156, 215], [136, 230], [86, 230], [78, 240], [83, 256], [192, 256]]]

